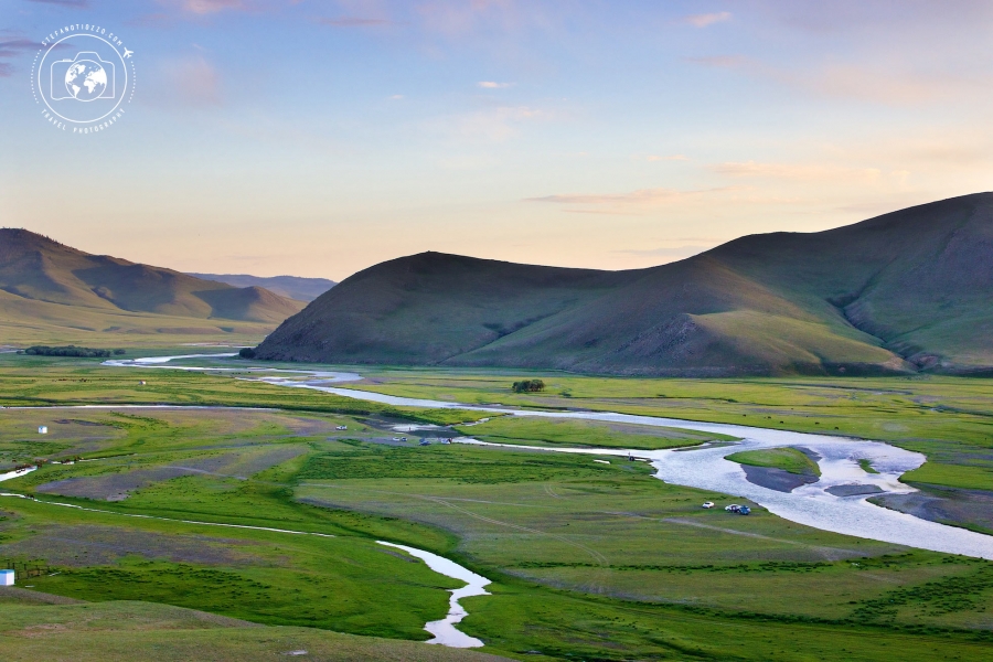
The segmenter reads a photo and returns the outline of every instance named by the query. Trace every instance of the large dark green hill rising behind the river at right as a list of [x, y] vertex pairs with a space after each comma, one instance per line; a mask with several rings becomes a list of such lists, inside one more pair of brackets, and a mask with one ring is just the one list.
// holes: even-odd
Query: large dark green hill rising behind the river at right
[[729, 242], [650, 269], [424, 253], [351, 278], [260, 357], [641, 375], [993, 366], [993, 193], [821, 233]]

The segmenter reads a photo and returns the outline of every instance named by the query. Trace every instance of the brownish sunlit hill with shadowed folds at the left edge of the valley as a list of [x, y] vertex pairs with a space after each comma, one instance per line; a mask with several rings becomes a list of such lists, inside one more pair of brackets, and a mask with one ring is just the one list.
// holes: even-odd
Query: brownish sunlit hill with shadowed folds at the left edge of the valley
[[0, 332], [6, 342], [120, 334], [264, 335], [303, 302], [171, 269], [89, 255], [25, 229], [0, 228]]

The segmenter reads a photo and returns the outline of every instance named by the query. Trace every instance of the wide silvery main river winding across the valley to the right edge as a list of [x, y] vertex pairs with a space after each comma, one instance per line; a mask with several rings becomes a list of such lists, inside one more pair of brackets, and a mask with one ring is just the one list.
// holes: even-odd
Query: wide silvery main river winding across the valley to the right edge
[[[915, 492], [914, 488], [899, 482], [899, 477], [906, 471], [920, 467], [925, 462], [925, 456], [882, 441], [611, 412], [541, 412], [397, 397], [337, 386], [337, 384], [362, 380], [362, 376], [359, 374], [345, 372], [168, 365], [175, 359], [218, 359], [234, 355], [189, 354], [185, 356], [156, 356], [150, 359], [111, 360], [105, 362], [105, 364], [119, 367], [250, 372], [257, 376], [241, 378], [252, 378], [291, 388], [310, 388], [394, 406], [469, 409], [510, 416], [600, 420], [730, 435], [740, 438], [741, 441], [728, 446], [703, 445], [688, 450], [598, 448], [549, 448], [547, 450], [596, 456], [628, 457], [629, 455], [634, 455], [651, 461], [655, 468], [655, 477], [665, 482], [747, 498], [766, 508], [769, 512], [799, 524], [834, 533], [906, 545], [908, 547], [993, 559], [993, 536], [929, 522], [914, 515], [874, 505], [866, 501], [871, 494], [840, 496], [830, 491], [831, 488], [841, 485], [862, 485], [875, 490], [876, 494]], [[460, 441], [482, 444], [471, 438], [460, 439]], [[511, 445], [493, 446], [506, 447]], [[820, 480], [815, 483], [797, 488], [791, 492], [779, 492], [749, 482], [740, 465], [725, 459], [725, 456], [740, 450], [783, 446], [809, 449], [818, 453], [820, 456], [818, 460], [821, 469]], [[533, 449], [534, 447], [522, 448]], [[862, 469], [858, 460], [868, 460], [878, 473], [867, 473]]]

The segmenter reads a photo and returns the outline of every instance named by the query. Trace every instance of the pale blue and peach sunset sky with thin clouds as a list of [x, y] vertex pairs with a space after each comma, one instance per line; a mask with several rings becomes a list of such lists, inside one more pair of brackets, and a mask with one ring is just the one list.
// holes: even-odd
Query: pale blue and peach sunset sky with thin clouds
[[[70, 24], [134, 51], [89, 135], [32, 87]], [[0, 0], [0, 226], [220, 274], [653, 266], [993, 189], [991, 43], [989, 0]]]

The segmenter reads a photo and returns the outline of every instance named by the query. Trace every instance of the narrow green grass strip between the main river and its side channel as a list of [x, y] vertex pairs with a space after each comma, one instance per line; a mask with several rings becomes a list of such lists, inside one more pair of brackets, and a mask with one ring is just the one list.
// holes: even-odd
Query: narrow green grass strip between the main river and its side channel
[[498, 444], [538, 442], [548, 446], [634, 448], [654, 450], [729, 441], [734, 437], [665, 427], [632, 426], [591, 420], [555, 420], [502, 416], [469, 426], [456, 426], [466, 436]]

